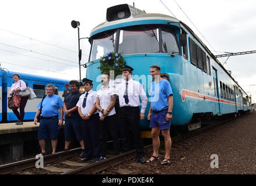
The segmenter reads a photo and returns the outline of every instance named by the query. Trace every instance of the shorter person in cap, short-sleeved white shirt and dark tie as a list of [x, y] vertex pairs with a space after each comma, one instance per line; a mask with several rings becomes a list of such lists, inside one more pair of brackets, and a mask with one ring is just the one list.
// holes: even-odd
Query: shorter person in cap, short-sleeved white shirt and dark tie
[[85, 158], [82, 159], [82, 162], [86, 162], [91, 158], [94, 158], [94, 162], [97, 162], [100, 158], [99, 112], [95, 105], [97, 92], [92, 90], [92, 80], [83, 78], [82, 81], [85, 94], [80, 96], [76, 104], [78, 113], [82, 118], [82, 135], [85, 144]]

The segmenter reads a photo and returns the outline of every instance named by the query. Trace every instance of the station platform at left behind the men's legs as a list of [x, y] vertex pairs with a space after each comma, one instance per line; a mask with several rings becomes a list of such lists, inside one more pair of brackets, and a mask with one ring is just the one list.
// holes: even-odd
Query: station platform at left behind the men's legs
[[[20, 159], [24, 156], [40, 153], [37, 133], [38, 126], [33, 121], [25, 121], [22, 125], [0, 123], [0, 162]], [[58, 146], [64, 146], [64, 125], [59, 127]], [[46, 141], [46, 150], [51, 151], [51, 140]], [[58, 148], [57, 146], [57, 148]]]

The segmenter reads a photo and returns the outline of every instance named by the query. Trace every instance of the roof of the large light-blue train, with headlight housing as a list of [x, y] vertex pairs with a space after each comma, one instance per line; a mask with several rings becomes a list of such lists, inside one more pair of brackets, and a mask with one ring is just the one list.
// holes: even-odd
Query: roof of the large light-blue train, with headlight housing
[[[120, 12], [124, 12], [123, 18], [117, 17], [117, 14]], [[237, 86], [241, 90], [243, 90], [243, 88], [240, 87], [237, 81], [234, 80], [231, 74], [225, 69], [222, 63], [220, 63], [219, 60], [215, 58], [215, 55], [213, 55], [213, 53], [208, 49], [208, 47], [206, 47], [204, 42], [202, 42], [201, 39], [194, 33], [194, 31], [192, 31], [191, 28], [187, 26], [187, 24], [169, 15], [163, 15], [159, 13], [146, 13], [145, 11], [137, 9], [134, 6], [131, 6], [128, 4], [112, 6], [107, 9], [106, 21], [92, 29], [90, 33], [89, 41], [92, 41], [92, 36], [95, 34], [98, 34], [107, 30], [112, 30], [115, 28], [132, 26], [132, 25], [135, 25], [134, 24], [135, 22], [142, 21], [142, 20], [166, 20], [167, 21], [166, 24], [168, 24], [168, 22], [171, 22], [172, 24], [178, 23], [181, 26], [185, 27], [188, 31], [190, 31], [190, 34], [202, 45], [202, 47], [204, 47], [204, 49], [209, 53], [209, 55], [211, 55], [212, 59], [215, 60], [215, 62], [218, 63], [220, 67], [222, 67], [222, 69], [227, 73], [228, 76], [230, 76], [230, 78], [232, 78], [234, 83], [236, 83]], [[246, 91], [244, 91], [244, 93], [246, 93]]]

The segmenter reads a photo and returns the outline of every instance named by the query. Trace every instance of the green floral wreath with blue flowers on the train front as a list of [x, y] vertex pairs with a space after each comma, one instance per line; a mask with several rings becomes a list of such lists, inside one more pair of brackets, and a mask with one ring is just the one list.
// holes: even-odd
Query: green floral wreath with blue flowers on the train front
[[110, 70], [114, 70], [115, 77], [122, 74], [121, 67], [125, 65], [124, 57], [121, 53], [107, 52], [106, 55], [100, 58], [100, 69], [101, 74], [110, 73]]

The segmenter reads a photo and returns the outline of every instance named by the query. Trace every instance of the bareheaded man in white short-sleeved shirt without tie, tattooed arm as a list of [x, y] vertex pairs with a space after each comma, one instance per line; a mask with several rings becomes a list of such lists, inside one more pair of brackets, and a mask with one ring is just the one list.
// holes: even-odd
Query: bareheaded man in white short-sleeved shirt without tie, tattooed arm
[[115, 155], [120, 153], [117, 133], [117, 115], [114, 107], [117, 95], [114, 92], [114, 88], [109, 87], [109, 81], [109, 74], [103, 73], [101, 76], [102, 88], [97, 91], [96, 98], [96, 108], [100, 111], [101, 157], [99, 160], [106, 159], [108, 131], [110, 131], [111, 138], [114, 141]]

